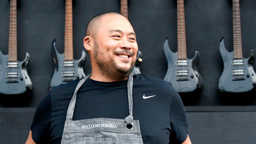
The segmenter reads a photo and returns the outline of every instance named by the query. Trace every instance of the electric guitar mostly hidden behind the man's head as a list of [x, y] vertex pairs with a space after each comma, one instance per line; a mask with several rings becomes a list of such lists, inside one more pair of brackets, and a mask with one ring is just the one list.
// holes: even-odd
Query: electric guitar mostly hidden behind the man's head
[[[124, 15], [128, 19], [128, 6], [127, 6], [127, 0], [121, 0], [121, 14]], [[141, 51], [138, 50], [137, 58], [142, 58]], [[141, 71], [139, 69], [139, 66], [141, 65], [141, 62], [139, 62], [138, 59], [136, 59], [136, 62], [133, 67], [133, 71], [131, 73], [133, 74], [141, 74]]]

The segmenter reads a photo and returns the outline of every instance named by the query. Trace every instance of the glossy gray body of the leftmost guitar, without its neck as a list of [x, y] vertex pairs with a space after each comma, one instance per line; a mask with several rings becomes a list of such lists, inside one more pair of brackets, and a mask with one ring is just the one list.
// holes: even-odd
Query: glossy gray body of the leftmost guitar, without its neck
[[29, 53], [22, 62], [10, 63], [8, 54], [3, 55], [0, 51], [0, 94], [16, 95], [32, 90], [32, 82], [27, 74], [28, 63]]

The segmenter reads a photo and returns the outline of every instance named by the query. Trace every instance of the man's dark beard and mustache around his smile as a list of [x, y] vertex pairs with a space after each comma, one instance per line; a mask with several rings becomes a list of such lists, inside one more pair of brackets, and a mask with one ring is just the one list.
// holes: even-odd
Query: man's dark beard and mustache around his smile
[[[133, 67], [134, 67], [134, 63], [131, 62], [131, 66], [128, 70], [126, 70], [125, 68], [123, 67], [119, 67], [117, 65], [117, 63], [114, 61], [113, 58], [110, 58], [110, 61], [109, 62], [104, 62], [100, 59], [98, 59], [99, 55], [101, 55], [99, 53], [99, 47], [98, 47], [98, 44], [96, 41], [94, 41], [94, 59], [95, 59], [95, 62], [97, 63], [98, 67], [99, 67], [99, 71], [105, 75], [106, 77], [108, 78], [111, 78], [111, 79], [115, 79], [117, 81], [120, 81], [120, 80], [123, 80], [123, 79], [126, 79], [130, 73], [133, 71]], [[128, 52], [128, 51], [122, 51], [124, 53], [130, 53], [131, 56], [133, 56], [134, 54], [131, 53], [131, 52]], [[114, 52], [115, 53], [115, 52]], [[102, 53], [103, 54], [103, 53]]]

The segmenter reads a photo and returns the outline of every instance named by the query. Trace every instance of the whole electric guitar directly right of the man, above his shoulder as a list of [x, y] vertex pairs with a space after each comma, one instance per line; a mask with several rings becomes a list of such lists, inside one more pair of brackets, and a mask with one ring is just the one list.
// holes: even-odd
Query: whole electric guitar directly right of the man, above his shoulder
[[179, 93], [200, 94], [203, 90], [202, 78], [197, 70], [199, 52], [195, 51], [193, 59], [187, 58], [184, 1], [177, 0], [178, 22], [178, 51], [173, 53], [165, 40], [163, 50], [168, 63], [168, 69], [164, 77], [165, 81], [171, 82], [174, 89]]

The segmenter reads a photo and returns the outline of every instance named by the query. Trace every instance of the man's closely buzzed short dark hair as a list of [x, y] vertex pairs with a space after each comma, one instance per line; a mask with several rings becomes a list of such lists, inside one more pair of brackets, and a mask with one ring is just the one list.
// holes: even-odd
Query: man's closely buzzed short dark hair
[[[108, 14], [112, 14], [112, 15], [122, 15], [120, 13], [117, 13], [117, 12], [106, 12], [106, 13], [101, 13], [101, 14], [98, 14], [96, 15], [95, 17], [93, 17], [87, 24], [86, 26], [86, 33], [85, 33], [85, 36], [88, 36], [88, 35], [91, 35], [91, 36], [95, 36], [97, 34], [97, 30], [99, 29], [100, 27], [100, 22], [99, 22], [99, 19], [102, 18], [103, 16], [105, 15], [108, 15]], [[123, 15], [122, 15], [123, 16]], [[125, 17], [125, 16], [123, 16]]]

